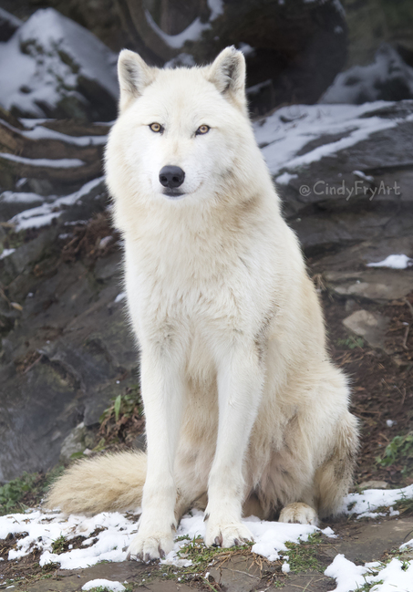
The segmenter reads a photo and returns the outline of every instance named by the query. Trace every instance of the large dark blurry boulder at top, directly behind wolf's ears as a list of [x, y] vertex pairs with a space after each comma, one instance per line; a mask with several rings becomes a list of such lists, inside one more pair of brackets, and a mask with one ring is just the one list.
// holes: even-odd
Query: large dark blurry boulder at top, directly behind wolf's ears
[[346, 61], [338, 0], [168, 0], [158, 11], [143, 0], [117, 4], [131, 44], [155, 65], [205, 64], [223, 47], [240, 48], [253, 113], [314, 103]]

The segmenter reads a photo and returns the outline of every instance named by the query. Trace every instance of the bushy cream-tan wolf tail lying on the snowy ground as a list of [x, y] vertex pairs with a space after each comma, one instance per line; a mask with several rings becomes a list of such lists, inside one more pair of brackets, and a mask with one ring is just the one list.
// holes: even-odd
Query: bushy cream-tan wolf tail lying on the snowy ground
[[122, 512], [139, 506], [146, 479], [144, 452], [117, 452], [76, 462], [52, 486], [46, 506], [66, 514]]

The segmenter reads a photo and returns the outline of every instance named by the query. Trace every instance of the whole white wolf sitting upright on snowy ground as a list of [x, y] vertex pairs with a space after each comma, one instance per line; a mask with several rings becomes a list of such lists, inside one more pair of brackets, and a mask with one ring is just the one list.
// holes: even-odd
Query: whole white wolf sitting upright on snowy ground
[[253, 137], [243, 54], [227, 47], [211, 66], [162, 70], [124, 50], [119, 84], [106, 171], [148, 455], [77, 463], [49, 504], [141, 503], [129, 556], [144, 560], [170, 551], [194, 504], [207, 545], [251, 539], [243, 514], [315, 524], [351, 483], [356, 419]]

